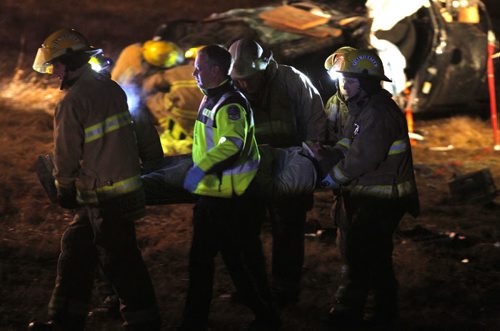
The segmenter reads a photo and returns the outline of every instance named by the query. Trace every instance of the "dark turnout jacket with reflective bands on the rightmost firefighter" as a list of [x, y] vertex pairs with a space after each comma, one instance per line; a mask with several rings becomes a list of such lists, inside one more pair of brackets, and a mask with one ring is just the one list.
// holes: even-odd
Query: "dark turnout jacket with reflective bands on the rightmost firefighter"
[[344, 159], [330, 171], [350, 195], [405, 199], [418, 213], [406, 120], [390, 94], [364, 92], [348, 102], [349, 117], [336, 144]]

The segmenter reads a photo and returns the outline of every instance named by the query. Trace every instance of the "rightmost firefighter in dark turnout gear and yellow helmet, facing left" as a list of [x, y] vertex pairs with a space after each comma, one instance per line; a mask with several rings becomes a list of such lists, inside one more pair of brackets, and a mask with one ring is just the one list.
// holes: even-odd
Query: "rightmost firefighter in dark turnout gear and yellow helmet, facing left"
[[[416, 217], [419, 209], [411, 145], [404, 115], [381, 87], [389, 79], [378, 55], [353, 50], [337, 71], [349, 116], [336, 153], [315, 150], [323, 186], [343, 196], [335, 216], [344, 265], [329, 320], [335, 326], [359, 326], [373, 291], [371, 321], [390, 330], [398, 316], [392, 236], [403, 215]], [[336, 164], [330, 167], [325, 157]]]

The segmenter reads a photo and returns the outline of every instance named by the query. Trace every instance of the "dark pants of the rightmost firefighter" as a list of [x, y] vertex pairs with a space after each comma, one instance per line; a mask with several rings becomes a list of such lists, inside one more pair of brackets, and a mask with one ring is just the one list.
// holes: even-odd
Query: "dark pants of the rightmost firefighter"
[[405, 205], [398, 200], [345, 195], [344, 207], [336, 213], [344, 260], [336, 309], [362, 317], [368, 291], [373, 290], [375, 314], [394, 318], [398, 282], [392, 263], [393, 233]]

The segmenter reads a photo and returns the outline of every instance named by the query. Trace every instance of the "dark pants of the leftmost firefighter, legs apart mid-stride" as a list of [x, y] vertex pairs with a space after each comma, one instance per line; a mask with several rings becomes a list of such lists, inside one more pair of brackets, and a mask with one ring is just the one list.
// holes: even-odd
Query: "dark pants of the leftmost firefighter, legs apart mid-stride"
[[62, 325], [85, 320], [97, 263], [120, 298], [124, 325], [159, 329], [156, 297], [137, 247], [134, 222], [103, 217], [100, 209], [89, 207], [78, 209], [63, 234], [50, 317]]

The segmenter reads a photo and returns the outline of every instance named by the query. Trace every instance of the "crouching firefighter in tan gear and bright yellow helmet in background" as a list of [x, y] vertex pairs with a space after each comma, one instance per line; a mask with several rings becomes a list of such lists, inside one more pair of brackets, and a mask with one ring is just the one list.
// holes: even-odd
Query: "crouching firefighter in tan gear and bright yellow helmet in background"
[[123, 49], [111, 78], [129, 95], [134, 119], [152, 120], [159, 127], [166, 155], [189, 153], [202, 94], [191, 76], [192, 63], [165, 40], [164, 30], [160, 26], [151, 40]]

